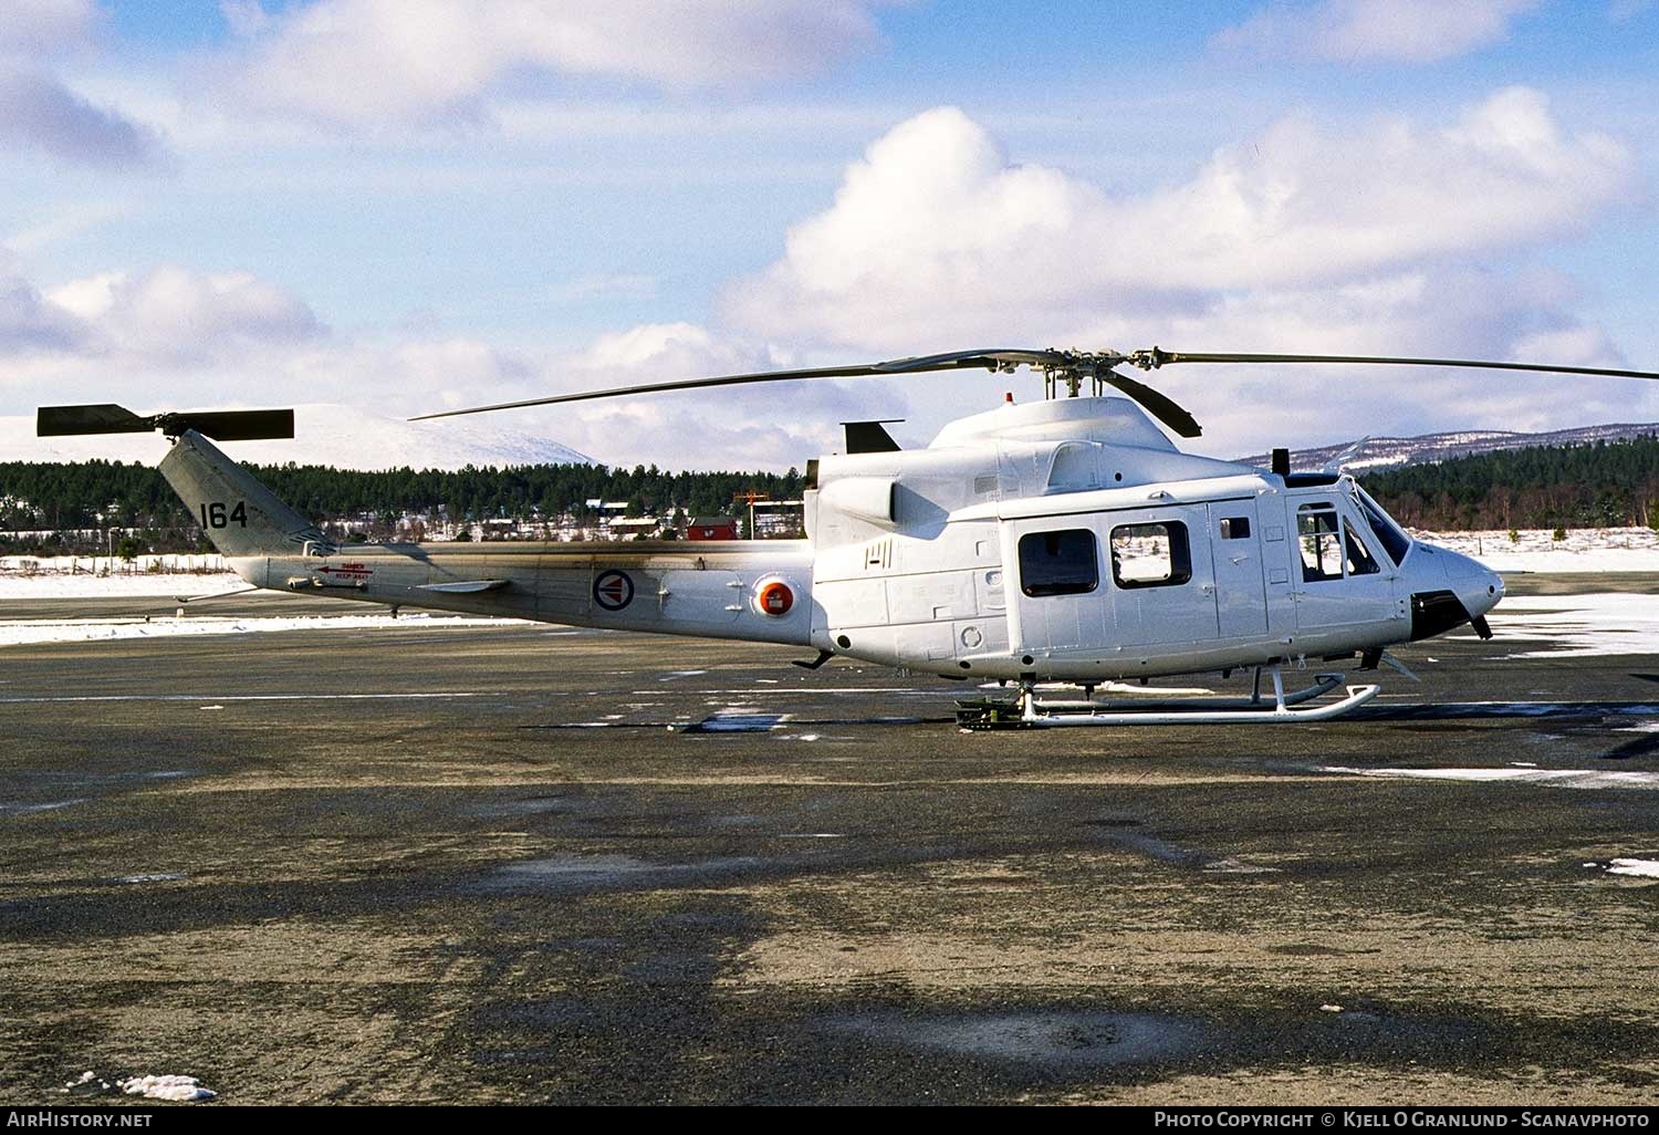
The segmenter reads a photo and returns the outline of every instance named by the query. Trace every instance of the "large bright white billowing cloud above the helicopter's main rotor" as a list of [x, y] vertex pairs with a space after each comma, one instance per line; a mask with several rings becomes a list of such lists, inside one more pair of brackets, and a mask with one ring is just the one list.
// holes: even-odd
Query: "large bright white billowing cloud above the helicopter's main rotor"
[[1065, 340], [1103, 312], [1170, 320], [1233, 290], [1352, 282], [1554, 236], [1634, 184], [1624, 146], [1564, 131], [1525, 88], [1440, 128], [1289, 118], [1185, 184], [1123, 197], [1010, 164], [979, 123], [942, 108], [878, 139], [725, 310], [752, 334], [878, 352]]

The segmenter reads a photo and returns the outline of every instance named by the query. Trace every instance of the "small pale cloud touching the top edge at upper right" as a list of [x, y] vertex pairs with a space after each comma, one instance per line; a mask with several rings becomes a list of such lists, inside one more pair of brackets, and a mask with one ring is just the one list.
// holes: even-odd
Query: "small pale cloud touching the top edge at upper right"
[[1322, 0], [1274, 3], [1213, 46], [1269, 58], [1433, 63], [1500, 43], [1538, 0]]

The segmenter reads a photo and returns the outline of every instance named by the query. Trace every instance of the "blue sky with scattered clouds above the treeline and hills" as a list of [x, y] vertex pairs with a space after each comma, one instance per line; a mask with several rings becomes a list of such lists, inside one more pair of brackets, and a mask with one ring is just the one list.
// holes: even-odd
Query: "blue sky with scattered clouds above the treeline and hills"
[[[0, 418], [403, 418], [989, 347], [1659, 370], [1656, 179], [1652, 0], [7, 0]], [[1213, 456], [1659, 421], [1639, 380], [1153, 382]], [[471, 423], [783, 470], [1005, 390], [1042, 383]]]

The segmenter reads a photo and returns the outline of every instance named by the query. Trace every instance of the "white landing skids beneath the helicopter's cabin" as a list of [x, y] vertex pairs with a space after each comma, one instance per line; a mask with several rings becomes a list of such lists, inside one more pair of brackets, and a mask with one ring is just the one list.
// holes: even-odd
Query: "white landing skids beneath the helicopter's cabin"
[[1342, 674], [1321, 674], [1314, 684], [1284, 692], [1284, 677], [1272, 667], [1272, 697], [1262, 697], [1261, 670], [1249, 697], [1188, 697], [1146, 700], [1044, 700], [1030, 685], [1014, 700], [959, 700], [956, 723], [962, 728], [1078, 728], [1085, 725], [1226, 725], [1248, 722], [1327, 722], [1357, 709], [1382, 692], [1380, 685], [1349, 685], [1347, 695], [1324, 705], [1304, 705], [1342, 684]]

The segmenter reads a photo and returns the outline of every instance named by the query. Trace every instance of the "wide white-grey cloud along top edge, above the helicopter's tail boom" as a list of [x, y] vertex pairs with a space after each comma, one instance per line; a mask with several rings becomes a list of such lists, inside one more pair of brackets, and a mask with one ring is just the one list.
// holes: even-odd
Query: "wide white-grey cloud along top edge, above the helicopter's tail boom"
[[[231, 8], [226, 61], [259, 110], [337, 124], [465, 121], [524, 80], [604, 76], [662, 86], [821, 73], [878, 40], [876, 0], [314, 0]], [[372, 75], [372, 81], [365, 76]]]

